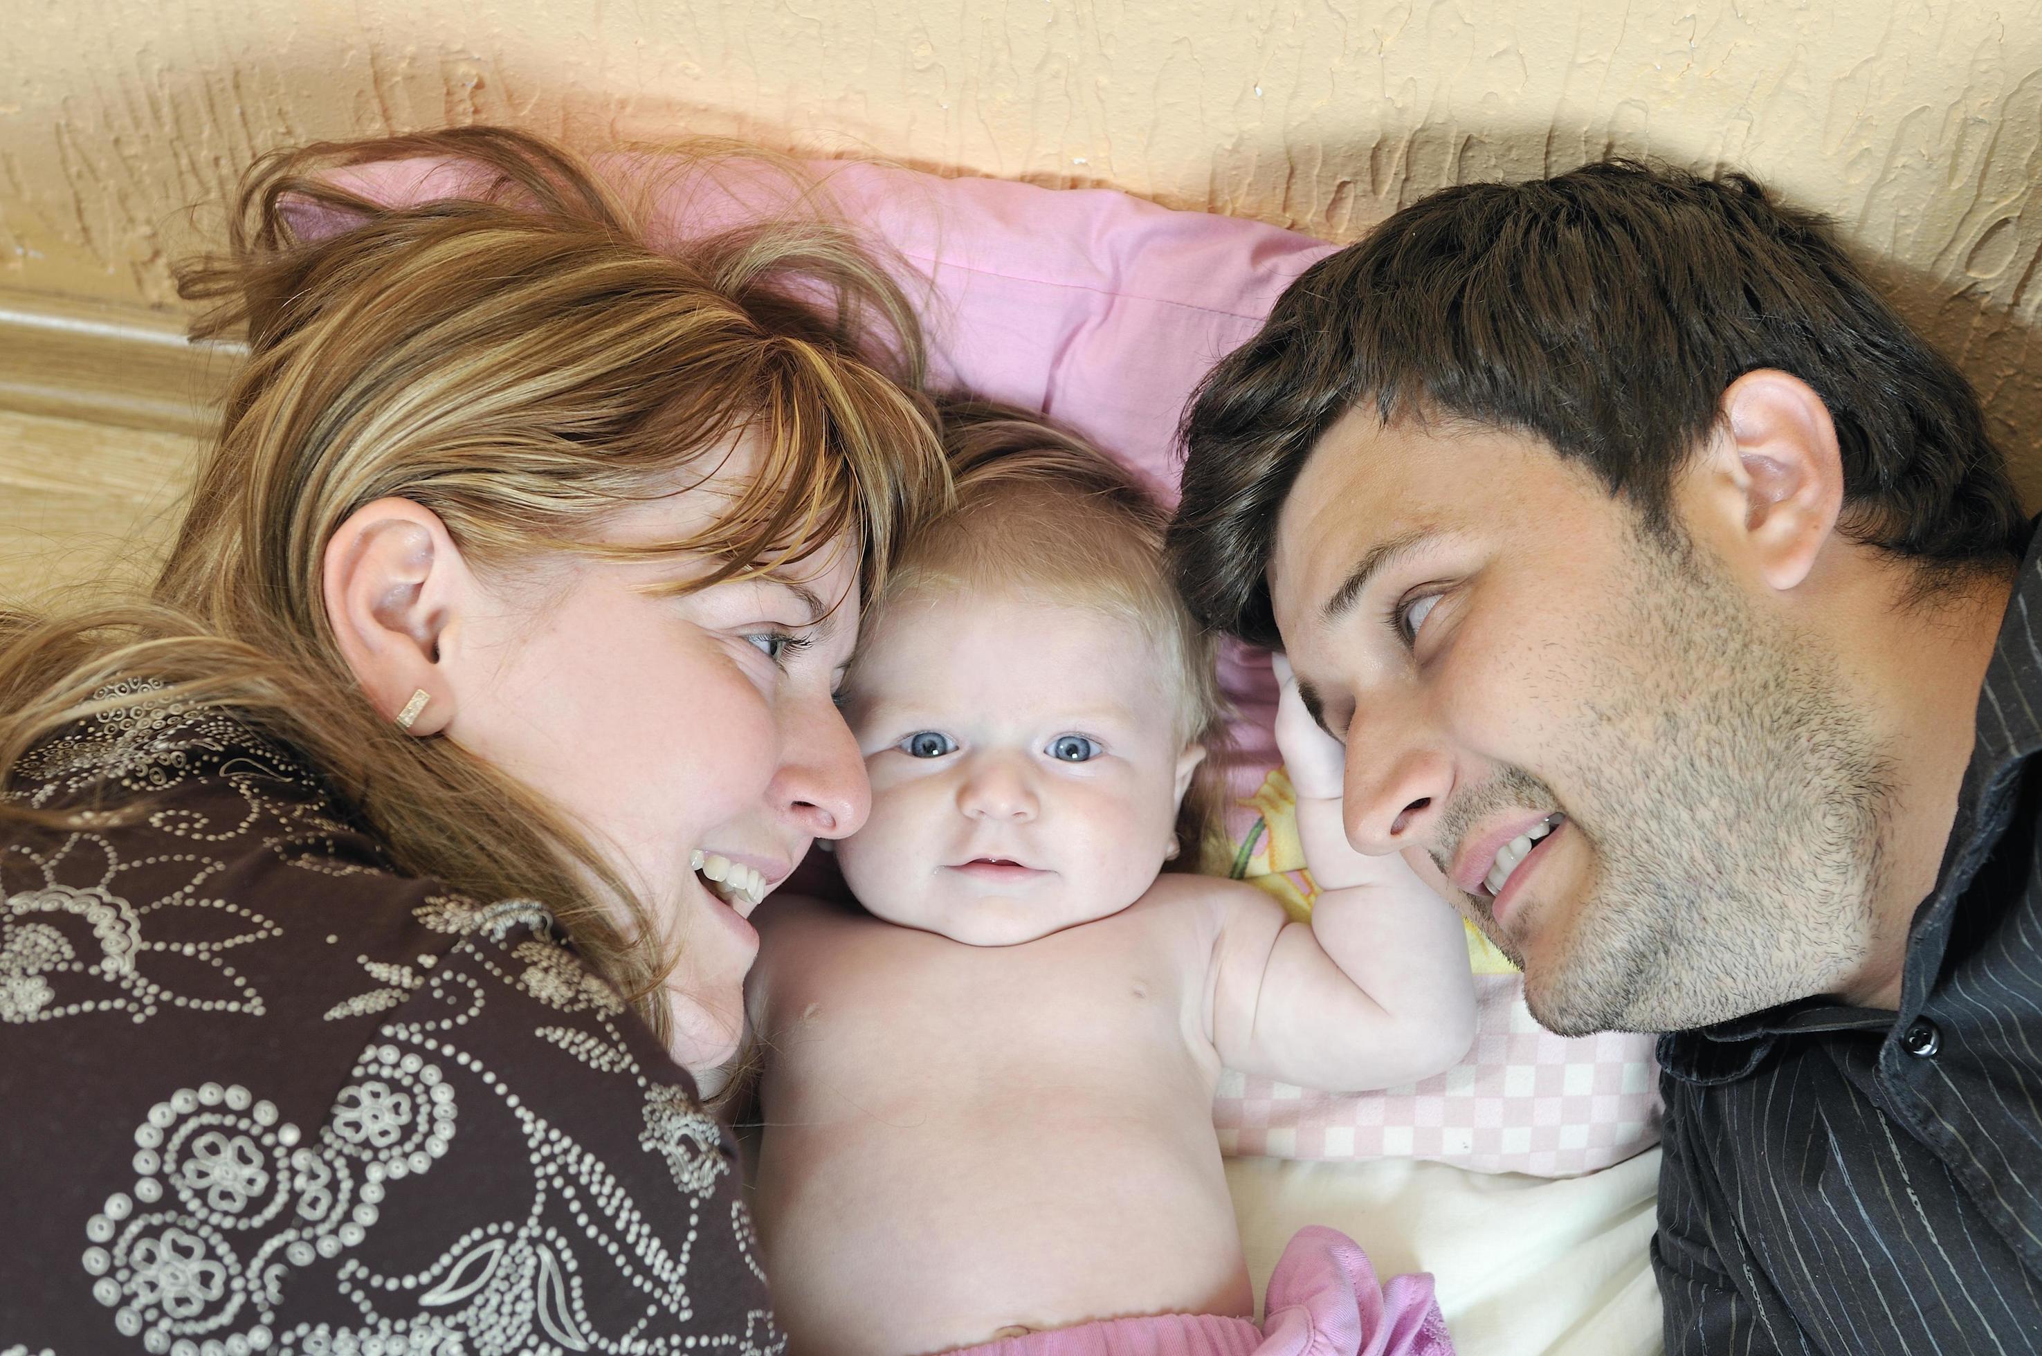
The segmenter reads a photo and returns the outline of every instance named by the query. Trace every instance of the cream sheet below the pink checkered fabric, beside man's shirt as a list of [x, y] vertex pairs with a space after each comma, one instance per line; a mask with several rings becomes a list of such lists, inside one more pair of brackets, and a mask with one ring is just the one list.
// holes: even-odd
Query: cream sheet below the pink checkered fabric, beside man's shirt
[[1256, 1295], [1291, 1236], [1323, 1223], [1382, 1276], [1429, 1270], [1460, 1356], [1658, 1356], [1658, 1160], [1548, 1180], [1409, 1158], [1229, 1158], [1227, 1186]]

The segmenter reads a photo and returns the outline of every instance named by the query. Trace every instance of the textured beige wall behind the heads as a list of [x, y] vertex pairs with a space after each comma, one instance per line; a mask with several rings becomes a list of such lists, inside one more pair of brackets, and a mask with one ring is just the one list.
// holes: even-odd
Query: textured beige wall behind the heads
[[186, 208], [255, 151], [443, 123], [741, 133], [1335, 239], [1442, 184], [1650, 153], [1742, 163], [1836, 214], [2042, 490], [2042, 0], [6, 8], [0, 302], [167, 304]]

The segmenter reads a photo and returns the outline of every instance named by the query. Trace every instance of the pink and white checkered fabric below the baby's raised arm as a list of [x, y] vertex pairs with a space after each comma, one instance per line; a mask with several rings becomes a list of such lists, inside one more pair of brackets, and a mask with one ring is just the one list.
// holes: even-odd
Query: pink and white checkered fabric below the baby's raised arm
[[1221, 1150], [1576, 1176], [1658, 1142], [1650, 1037], [1554, 1035], [1531, 1019], [1515, 974], [1478, 974], [1474, 992], [1474, 1048], [1423, 1082], [1335, 1095], [1227, 1070], [1213, 1101]]

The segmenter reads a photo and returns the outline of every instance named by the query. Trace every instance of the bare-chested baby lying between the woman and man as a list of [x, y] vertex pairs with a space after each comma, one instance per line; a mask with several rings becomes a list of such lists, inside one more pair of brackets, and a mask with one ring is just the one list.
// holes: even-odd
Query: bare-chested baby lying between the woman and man
[[1311, 925], [1182, 874], [1215, 823], [1221, 711], [1162, 511], [994, 406], [954, 408], [947, 443], [958, 511], [903, 562], [845, 694], [872, 815], [837, 862], [864, 911], [782, 897], [756, 919], [774, 1307], [796, 1356], [1135, 1315], [1219, 1315], [1146, 1321], [1254, 1350], [1219, 1070], [1340, 1091], [1444, 1070], [1474, 1029], [1462, 925], [1399, 858], [1348, 848], [1340, 747], [1289, 684]]

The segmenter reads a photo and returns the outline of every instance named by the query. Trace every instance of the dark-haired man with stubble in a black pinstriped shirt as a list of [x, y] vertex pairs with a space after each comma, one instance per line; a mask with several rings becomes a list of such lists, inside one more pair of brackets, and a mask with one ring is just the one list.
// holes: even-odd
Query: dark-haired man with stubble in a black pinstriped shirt
[[2042, 1350], [2042, 555], [1826, 227], [1632, 163], [1446, 190], [1184, 437], [1184, 594], [1286, 651], [1350, 839], [1548, 1027], [1668, 1033], [1668, 1348]]

